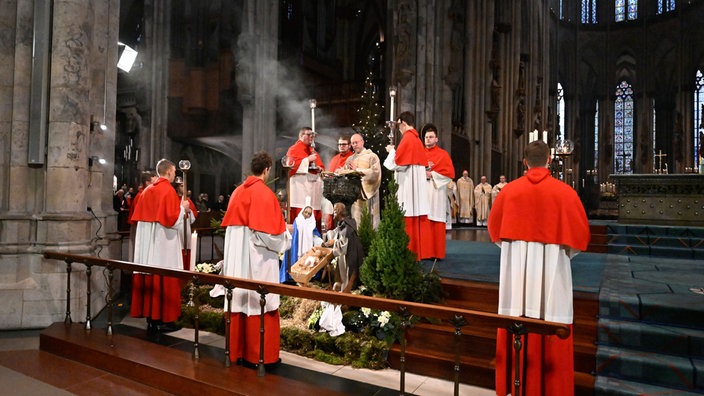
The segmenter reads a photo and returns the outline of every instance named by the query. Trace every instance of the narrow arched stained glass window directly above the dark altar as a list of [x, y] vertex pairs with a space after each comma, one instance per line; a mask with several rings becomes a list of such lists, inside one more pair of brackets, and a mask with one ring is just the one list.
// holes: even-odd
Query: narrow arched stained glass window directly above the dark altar
[[633, 173], [633, 88], [622, 81], [614, 103], [614, 173]]

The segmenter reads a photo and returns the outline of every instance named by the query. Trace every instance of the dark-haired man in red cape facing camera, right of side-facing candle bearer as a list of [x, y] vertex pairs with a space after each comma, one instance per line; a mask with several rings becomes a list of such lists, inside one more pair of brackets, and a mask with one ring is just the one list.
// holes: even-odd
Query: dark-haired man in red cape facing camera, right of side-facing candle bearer
[[438, 146], [438, 130], [433, 124], [423, 127], [425, 154], [428, 168], [425, 177], [428, 184], [430, 212], [428, 225], [430, 234], [423, 241], [424, 259], [444, 259], [447, 229], [447, 185], [455, 178], [455, 167], [447, 151]]

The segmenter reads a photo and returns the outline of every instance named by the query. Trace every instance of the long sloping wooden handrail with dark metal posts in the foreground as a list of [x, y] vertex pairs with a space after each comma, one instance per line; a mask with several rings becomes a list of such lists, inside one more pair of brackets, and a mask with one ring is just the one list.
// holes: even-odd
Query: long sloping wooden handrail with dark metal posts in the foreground
[[[528, 333], [544, 334], [544, 335], [557, 335], [560, 338], [567, 338], [570, 334], [570, 329], [568, 325], [562, 323], [546, 322], [538, 319], [521, 318], [513, 316], [505, 316], [492, 314], [487, 312], [473, 311], [460, 308], [445, 307], [441, 305], [431, 305], [431, 304], [421, 304], [409, 301], [391, 300], [386, 298], [376, 298], [369, 296], [360, 296], [347, 293], [332, 292], [327, 290], [317, 290], [306, 287], [290, 286], [286, 284], [261, 282], [254, 280], [247, 280], [242, 278], [234, 278], [222, 275], [205, 274], [200, 272], [190, 272], [176, 269], [166, 269], [151, 267], [141, 264], [135, 264], [127, 261], [120, 260], [110, 260], [103, 259], [93, 256], [75, 255], [62, 252], [52, 252], [48, 251], [44, 253], [44, 257], [47, 259], [62, 260], [66, 263], [67, 281], [66, 281], [66, 317], [65, 322], [71, 323], [71, 272], [72, 264], [80, 263], [86, 266], [86, 274], [88, 279], [92, 272], [92, 267], [105, 267], [108, 271], [108, 300], [107, 300], [107, 334], [113, 334], [113, 294], [112, 280], [114, 270], [132, 271], [132, 272], [143, 272], [151, 273], [161, 276], [170, 276], [173, 278], [178, 278], [181, 280], [193, 282], [193, 284], [221, 284], [227, 289], [226, 298], [228, 299], [228, 307], [232, 306], [232, 290], [234, 288], [242, 288], [248, 290], [254, 290], [260, 295], [260, 305], [261, 313], [264, 315], [264, 305], [266, 304], [266, 295], [269, 293], [276, 293], [279, 295], [287, 295], [293, 297], [306, 298], [310, 300], [326, 301], [332, 304], [344, 304], [348, 306], [355, 307], [368, 307], [373, 309], [379, 309], [384, 311], [396, 312], [402, 318], [402, 334], [401, 334], [401, 366], [400, 366], [400, 391], [403, 395], [405, 392], [405, 348], [406, 348], [406, 334], [405, 329], [410, 326], [411, 316], [415, 315], [423, 318], [436, 318], [447, 323], [452, 324], [455, 327], [455, 342], [459, 346], [461, 343], [462, 328], [465, 326], [478, 326], [478, 327], [488, 327], [488, 328], [505, 328], [507, 331], [514, 335], [513, 346], [516, 351], [514, 358], [514, 370], [516, 373], [521, 373], [520, 368], [520, 355], [523, 349], [524, 337]], [[86, 311], [86, 330], [91, 329], [91, 309], [90, 309], [90, 294], [91, 287], [90, 282], [86, 282], [87, 290], [87, 311]], [[229, 334], [229, 315], [226, 320], [226, 332]], [[193, 343], [193, 354], [194, 358], [199, 358], [199, 344], [198, 344], [198, 332], [199, 332], [199, 307], [195, 305], [195, 316], [194, 316], [194, 343]], [[260, 331], [264, 332], [263, 323]], [[260, 354], [263, 355], [264, 348], [264, 337], [260, 337]], [[229, 357], [229, 337], [225, 337], [225, 366], [230, 365]], [[454, 365], [454, 394], [459, 395], [459, 379], [460, 379], [460, 348], [456, 348], [455, 355], [455, 365]], [[524, 353], [523, 353], [524, 354]], [[525, 356], [524, 356], [525, 359]], [[260, 356], [260, 360], [257, 365], [258, 375], [265, 375], [265, 367], [263, 364], [263, 357]], [[509, 374], [510, 375], [510, 374]], [[517, 378], [519, 378], [517, 376]], [[525, 379], [524, 379], [525, 381]], [[513, 394], [520, 394], [521, 381], [516, 380], [514, 382], [515, 391]]]

